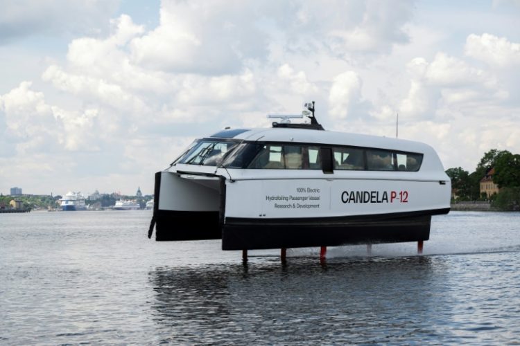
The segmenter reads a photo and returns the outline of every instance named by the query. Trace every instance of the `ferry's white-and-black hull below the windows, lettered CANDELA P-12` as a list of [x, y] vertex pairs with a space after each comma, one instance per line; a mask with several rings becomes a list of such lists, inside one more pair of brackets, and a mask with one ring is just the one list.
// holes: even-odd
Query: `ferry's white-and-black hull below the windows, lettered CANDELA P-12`
[[431, 215], [449, 212], [449, 181], [199, 177], [157, 173], [157, 240], [222, 239], [223, 250], [414, 242], [429, 239]]

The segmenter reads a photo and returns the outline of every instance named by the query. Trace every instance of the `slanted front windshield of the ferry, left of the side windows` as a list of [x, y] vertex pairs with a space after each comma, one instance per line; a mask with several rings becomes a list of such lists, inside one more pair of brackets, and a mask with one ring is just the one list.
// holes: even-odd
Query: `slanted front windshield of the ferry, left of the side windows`
[[177, 163], [187, 165], [218, 166], [223, 158], [237, 145], [236, 142], [200, 140], [184, 154]]

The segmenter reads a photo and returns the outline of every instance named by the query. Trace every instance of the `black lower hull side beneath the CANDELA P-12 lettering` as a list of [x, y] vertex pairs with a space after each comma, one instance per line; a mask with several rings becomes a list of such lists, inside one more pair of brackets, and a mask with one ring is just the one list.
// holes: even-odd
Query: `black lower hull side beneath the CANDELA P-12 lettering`
[[226, 218], [223, 250], [301, 248], [417, 242], [430, 237], [431, 215], [447, 210], [394, 215], [305, 219]]

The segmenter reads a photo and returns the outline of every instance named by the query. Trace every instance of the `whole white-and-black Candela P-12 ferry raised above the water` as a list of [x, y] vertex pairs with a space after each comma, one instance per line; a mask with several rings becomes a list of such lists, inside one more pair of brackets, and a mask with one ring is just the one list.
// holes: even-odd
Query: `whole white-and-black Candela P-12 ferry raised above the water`
[[[288, 116], [268, 129], [195, 140], [155, 174], [148, 237], [222, 239], [223, 250], [419, 242], [450, 208], [434, 149], [397, 138], [325, 131]], [[301, 116], [300, 116], [301, 118]]]

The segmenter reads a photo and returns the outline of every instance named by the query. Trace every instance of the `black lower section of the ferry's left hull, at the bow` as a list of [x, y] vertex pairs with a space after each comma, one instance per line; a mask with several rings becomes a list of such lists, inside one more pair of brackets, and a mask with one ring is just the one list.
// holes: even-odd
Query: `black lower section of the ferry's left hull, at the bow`
[[220, 239], [219, 212], [179, 212], [157, 210], [155, 240]]

